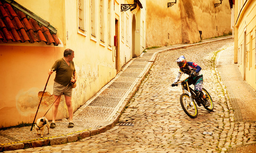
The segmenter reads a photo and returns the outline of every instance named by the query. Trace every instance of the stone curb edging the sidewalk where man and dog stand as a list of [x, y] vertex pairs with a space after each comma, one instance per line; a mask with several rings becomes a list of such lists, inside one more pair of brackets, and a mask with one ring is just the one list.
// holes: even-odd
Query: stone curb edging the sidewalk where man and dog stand
[[[123, 101], [123, 104], [119, 108], [117, 114], [113, 117], [113, 119], [110, 121], [110, 124], [106, 126], [101, 126], [98, 129], [93, 129], [93, 130], [86, 130], [82, 132], [75, 132], [74, 134], [70, 134], [67, 136], [60, 136], [60, 137], [55, 137], [55, 138], [48, 138], [48, 139], [42, 139], [42, 140], [31, 140], [31, 141], [26, 141], [26, 142], [21, 142], [21, 143], [13, 143], [13, 144], [8, 144], [8, 145], [0, 145], [0, 152], [3, 151], [9, 151], [9, 150], [17, 150], [17, 149], [26, 149], [26, 148], [33, 148], [33, 147], [42, 147], [42, 146], [49, 146], [49, 145], [58, 145], [58, 144], [63, 144], [63, 143], [69, 143], [69, 142], [75, 142], [80, 139], [94, 136], [100, 133], [103, 133], [105, 131], [108, 131], [112, 129], [118, 122], [119, 117], [121, 116], [122, 112], [124, 111], [125, 107], [127, 104], [129, 104], [130, 100], [132, 97], [135, 95], [137, 92], [140, 84], [142, 81], [145, 79], [146, 75], [150, 72], [151, 67], [153, 66], [156, 57], [158, 56], [159, 53], [164, 53], [164, 52], [169, 52], [170, 50], [176, 50], [176, 49], [181, 49], [181, 48], [187, 48], [195, 45], [201, 45], [205, 43], [210, 43], [210, 42], [216, 42], [216, 41], [221, 41], [221, 40], [226, 40], [226, 39], [231, 39], [232, 37], [228, 38], [221, 38], [218, 40], [211, 40], [211, 41], [206, 41], [206, 42], [200, 42], [200, 43], [194, 43], [194, 44], [184, 44], [179, 47], [173, 47], [173, 48], [167, 48], [167, 49], [162, 49], [156, 52], [152, 56], [152, 60], [148, 61], [150, 64], [146, 68], [145, 72], [143, 73], [142, 77], [137, 81], [136, 85], [133, 87], [132, 91], [129, 93], [129, 95], [125, 98]], [[139, 57], [138, 57], [139, 58]]]

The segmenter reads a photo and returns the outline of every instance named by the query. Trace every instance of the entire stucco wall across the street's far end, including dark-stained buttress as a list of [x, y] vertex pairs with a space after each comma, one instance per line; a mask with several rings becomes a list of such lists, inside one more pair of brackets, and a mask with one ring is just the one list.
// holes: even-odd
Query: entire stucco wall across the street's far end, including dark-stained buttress
[[[195, 43], [202, 39], [228, 34], [230, 15], [228, 1], [215, 8], [220, 1], [177, 1], [167, 8], [170, 1], [146, 1], [146, 47], [178, 43]], [[175, 1], [172, 1], [175, 2]]]

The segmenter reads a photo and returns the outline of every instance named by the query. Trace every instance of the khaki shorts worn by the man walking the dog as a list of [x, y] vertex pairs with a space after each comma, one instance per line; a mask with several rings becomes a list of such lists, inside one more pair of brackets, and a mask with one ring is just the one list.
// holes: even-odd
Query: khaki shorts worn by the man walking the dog
[[59, 83], [56, 83], [54, 81], [54, 84], [53, 84], [53, 94], [58, 96], [62, 92], [63, 92], [63, 95], [71, 97], [72, 96], [72, 86], [70, 86], [70, 85], [63, 86], [63, 85], [61, 85]]

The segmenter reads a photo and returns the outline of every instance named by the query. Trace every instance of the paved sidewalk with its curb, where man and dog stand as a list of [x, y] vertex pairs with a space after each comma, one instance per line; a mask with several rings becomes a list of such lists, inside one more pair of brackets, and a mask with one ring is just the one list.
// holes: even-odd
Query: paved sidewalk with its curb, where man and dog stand
[[67, 128], [68, 121], [63, 119], [56, 122], [56, 129], [50, 129], [49, 135], [45, 130], [43, 138], [36, 135], [34, 128], [30, 131], [30, 127], [2, 130], [0, 131], [0, 151], [74, 142], [112, 129], [150, 70], [158, 53], [230, 38], [230, 36], [212, 38], [195, 44], [177, 44], [147, 50], [147, 53], [124, 65], [109, 84], [74, 113], [74, 128]]

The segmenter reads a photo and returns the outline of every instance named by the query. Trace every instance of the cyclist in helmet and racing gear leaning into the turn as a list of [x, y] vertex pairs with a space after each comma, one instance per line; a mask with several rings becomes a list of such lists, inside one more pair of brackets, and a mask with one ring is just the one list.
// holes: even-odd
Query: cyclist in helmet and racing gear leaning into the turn
[[207, 98], [202, 92], [202, 88], [203, 88], [203, 74], [201, 71], [202, 68], [194, 62], [187, 62], [184, 56], [180, 56], [176, 60], [176, 62], [180, 67], [180, 70], [172, 86], [174, 87], [177, 85], [183, 73], [190, 75], [190, 77], [188, 78], [188, 85], [190, 86], [191, 84], [193, 84], [195, 86], [195, 91], [197, 96], [202, 97], [204, 99], [204, 102], [205, 102], [204, 106], [205, 107], [210, 106], [209, 101], [207, 100]]

